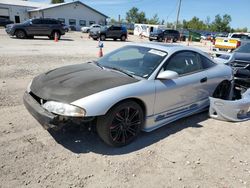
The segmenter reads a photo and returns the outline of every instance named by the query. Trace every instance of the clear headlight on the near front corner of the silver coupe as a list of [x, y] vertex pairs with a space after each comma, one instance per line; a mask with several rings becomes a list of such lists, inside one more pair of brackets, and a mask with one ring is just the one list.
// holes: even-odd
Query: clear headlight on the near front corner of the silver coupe
[[54, 114], [70, 116], [70, 117], [84, 117], [86, 112], [84, 109], [70, 104], [48, 101], [43, 104], [43, 108]]

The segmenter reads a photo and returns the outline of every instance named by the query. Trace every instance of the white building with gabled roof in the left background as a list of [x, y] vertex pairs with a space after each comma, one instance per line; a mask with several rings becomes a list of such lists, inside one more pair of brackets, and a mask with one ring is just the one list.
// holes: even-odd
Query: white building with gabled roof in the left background
[[9, 18], [15, 23], [30, 18], [54, 18], [80, 30], [91, 24], [106, 24], [108, 16], [80, 1], [45, 4], [22, 0], [0, 0], [0, 17]]

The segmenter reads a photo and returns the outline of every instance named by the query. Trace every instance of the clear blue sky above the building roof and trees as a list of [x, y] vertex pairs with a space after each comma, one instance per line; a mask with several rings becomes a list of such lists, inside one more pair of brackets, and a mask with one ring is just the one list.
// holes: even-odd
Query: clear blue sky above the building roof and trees
[[[46, 2], [50, 0], [30, 0]], [[66, 0], [70, 2], [72, 0]], [[83, 3], [99, 10], [111, 18], [126, 17], [126, 12], [133, 6], [146, 13], [146, 17], [158, 14], [159, 18], [168, 22], [176, 20], [179, 0], [81, 0]], [[180, 19], [189, 20], [194, 16], [205, 20], [207, 16], [214, 19], [216, 14], [229, 14], [231, 26], [248, 27], [250, 29], [250, 0], [182, 0]]]

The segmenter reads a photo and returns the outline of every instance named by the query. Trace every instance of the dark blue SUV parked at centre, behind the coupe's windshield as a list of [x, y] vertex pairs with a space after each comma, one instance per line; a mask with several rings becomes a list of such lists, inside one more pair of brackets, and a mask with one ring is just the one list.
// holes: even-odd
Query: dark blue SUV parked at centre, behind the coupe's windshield
[[90, 31], [89, 34], [94, 40], [100, 38], [100, 40], [106, 40], [106, 38], [111, 38], [114, 40], [120, 39], [121, 41], [125, 41], [128, 36], [128, 32], [126, 27], [123, 26], [105, 26], [102, 27], [100, 31]]

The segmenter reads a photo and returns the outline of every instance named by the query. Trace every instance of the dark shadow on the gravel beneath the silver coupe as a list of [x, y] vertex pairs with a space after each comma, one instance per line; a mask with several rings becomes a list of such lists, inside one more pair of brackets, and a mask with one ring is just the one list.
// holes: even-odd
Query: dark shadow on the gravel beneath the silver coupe
[[142, 132], [130, 145], [122, 148], [107, 146], [96, 132], [82, 131], [79, 127], [67, 131], [50, 132], [51, 136], [68, 150], [74, 153], [94, 152], [103, 155], [122, 155], [143, 149], [183, 129], [201, 128], [200, 122], [208, 118], [207, 112], [183, 118], [150, 133]]

